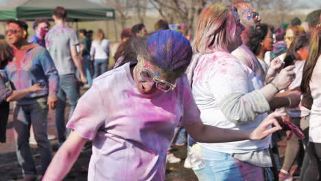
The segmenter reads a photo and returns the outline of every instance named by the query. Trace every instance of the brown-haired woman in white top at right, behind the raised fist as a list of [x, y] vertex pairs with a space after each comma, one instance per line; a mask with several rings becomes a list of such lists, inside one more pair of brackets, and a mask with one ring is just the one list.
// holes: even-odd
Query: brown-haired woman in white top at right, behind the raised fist
[[[295, 65], [294, 72], [296, 73], [296, 78], [289, 85], [287, 90], [300, 90], [300, 84], [302, 80], [303, 67], [305, 65], [305, 60], [309, 53], [309, 38], [306, 35], [299, 35], [294, 38], [287, 54], [285, 56], [285, 67], [289, 65]], [[286, 94], [283, 93], [283, 94]], [[300, 103], [296, 108], [286, 108], [288, 121], [294, 123], [300, 130], [306, 135], [303, 141], [295, 134], [289, 138], [287, 141], [287, 147], [285, 149], [283, 166], [281, 167], [280, 173], [278, 174], [279, 180], [289, 180], [293, 179], [291, 173], [292, 165], [294, 160], [298, 160], [298, 168], [301, 167], [302, 158], [304, 154], [300, 153], [300, 147], [303, 147], [302, 143], [307, 147], [308, 133], [309, 133], [309, 114], [310, 110], [302, 106]], [[289, 132], [287, 133], [289, 134]], [[296, 159], [297, 158], [297, 159]]]

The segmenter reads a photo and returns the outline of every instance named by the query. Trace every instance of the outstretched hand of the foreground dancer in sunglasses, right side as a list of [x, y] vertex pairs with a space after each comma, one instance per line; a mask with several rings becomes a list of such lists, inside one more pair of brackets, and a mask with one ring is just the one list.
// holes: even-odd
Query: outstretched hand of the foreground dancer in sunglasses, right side
[[[268, 136], [269, 134], [272, 134], [273, 132], [276, 132], [278, 130], [282, 130], [281, 125], [276, 120], [276, 117], [283, 117], [285, 116], [284, 112], [273, 112], [266, 117], [259, 127], [257, 127], [254, 131], [250, 133], [249, 139], [250, 140], [261, 140]], [[269, 128], [270, 125], [274, 125], [273, 128]]]

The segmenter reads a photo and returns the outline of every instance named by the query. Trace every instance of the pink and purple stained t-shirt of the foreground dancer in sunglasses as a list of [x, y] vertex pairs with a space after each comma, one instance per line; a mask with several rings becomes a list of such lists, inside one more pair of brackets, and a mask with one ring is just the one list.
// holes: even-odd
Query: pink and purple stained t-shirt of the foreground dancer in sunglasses
[[67, 124], [93, 141], [88, 180], [165, 180], [174, 129], [200, 121], [186, 75], [167, 93], [141, 94], [130, 64], [97, 77]]

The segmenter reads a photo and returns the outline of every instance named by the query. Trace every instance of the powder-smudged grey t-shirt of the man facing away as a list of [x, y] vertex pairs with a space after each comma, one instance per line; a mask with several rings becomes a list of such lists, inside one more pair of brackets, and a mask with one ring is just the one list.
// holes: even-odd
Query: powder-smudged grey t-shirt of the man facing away
[[75, 31], [65, 25], [55, 25], [49, 30], [45, 40], [59, 75], [75, 73], [75, 63], [70, 51], [71, 46], [78, 45]]

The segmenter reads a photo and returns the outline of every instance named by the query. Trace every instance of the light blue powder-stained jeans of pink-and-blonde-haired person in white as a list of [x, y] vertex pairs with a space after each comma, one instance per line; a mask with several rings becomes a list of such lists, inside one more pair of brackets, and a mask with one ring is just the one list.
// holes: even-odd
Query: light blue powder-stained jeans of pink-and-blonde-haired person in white
[[191, 165], [200, 181], [264, 180], [263, 168], [241, 162], [230, 154], [215, 152], [198, 144], [190, 149]]

